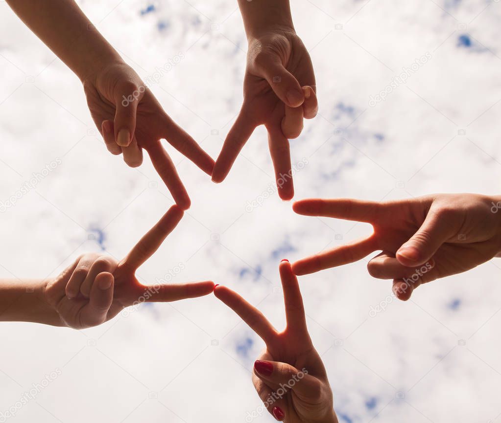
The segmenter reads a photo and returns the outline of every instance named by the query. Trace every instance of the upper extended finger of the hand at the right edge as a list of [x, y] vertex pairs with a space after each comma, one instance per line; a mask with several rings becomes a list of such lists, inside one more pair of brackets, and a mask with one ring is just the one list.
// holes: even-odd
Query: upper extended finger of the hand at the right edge
[[305, 216], [336, 217], [338, 219], [356, 220], [375, 223], [380, 220], [383, 205], [376, 201], [365, 201], [353, 198], [307, 198], [296, 201], [292, 209]]

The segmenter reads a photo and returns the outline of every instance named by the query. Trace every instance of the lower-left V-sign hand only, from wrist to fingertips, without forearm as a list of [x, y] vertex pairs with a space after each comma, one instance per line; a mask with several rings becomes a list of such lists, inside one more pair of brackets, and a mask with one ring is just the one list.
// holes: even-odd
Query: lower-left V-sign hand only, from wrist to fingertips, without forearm
[[162, 244], [179, 223], [182, 210], [174, 205], [120, 262], [100, 254], [84, 254], [45, 287], [46, 301], [62, 325], [83, 329], [97, 326], [123, 308], [145, 301], [176, 301], [212, 292], [214, 283], [142, 285], [136, 269]]

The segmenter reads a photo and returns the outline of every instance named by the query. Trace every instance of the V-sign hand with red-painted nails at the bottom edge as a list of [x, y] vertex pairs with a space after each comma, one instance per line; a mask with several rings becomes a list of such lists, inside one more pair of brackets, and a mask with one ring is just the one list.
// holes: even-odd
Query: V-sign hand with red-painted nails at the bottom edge
[[298, 279], [287, 260], [280, 263], [280, 277], [287, 317], [280, 333], [231, 289], [216, 285], [214, 294], [266, 343], [254, 364], [253, 382], [268, 411], [287, 423], [337, 423], [327, 373], [308, 333]]

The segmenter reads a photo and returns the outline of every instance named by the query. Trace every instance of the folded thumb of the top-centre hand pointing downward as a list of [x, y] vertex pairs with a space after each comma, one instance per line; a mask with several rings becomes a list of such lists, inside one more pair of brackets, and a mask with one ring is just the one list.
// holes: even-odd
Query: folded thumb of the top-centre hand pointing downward
[[280, 59], [271, 55], [257, 58], [259, 73], [264, 77], [277, 96], [290, 107], [299, 107], [305, 100], [301, 84], [289, 72]]

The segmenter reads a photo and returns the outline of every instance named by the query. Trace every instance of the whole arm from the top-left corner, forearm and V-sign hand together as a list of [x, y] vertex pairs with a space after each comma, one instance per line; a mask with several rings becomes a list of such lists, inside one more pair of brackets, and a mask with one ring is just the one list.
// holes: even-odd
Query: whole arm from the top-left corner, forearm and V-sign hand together
[[123, 154], [132, 167], [143, 161], [144, 148], [155, 169], [186, 209], [190, 199], [160, 142], [174, 148], [209, 175], [214, 161], [180, 128], [137, 73], [99, 33], [75, 1], [8, 0], [11, 8], [84, 85], [92, 118], [108, 150]]

